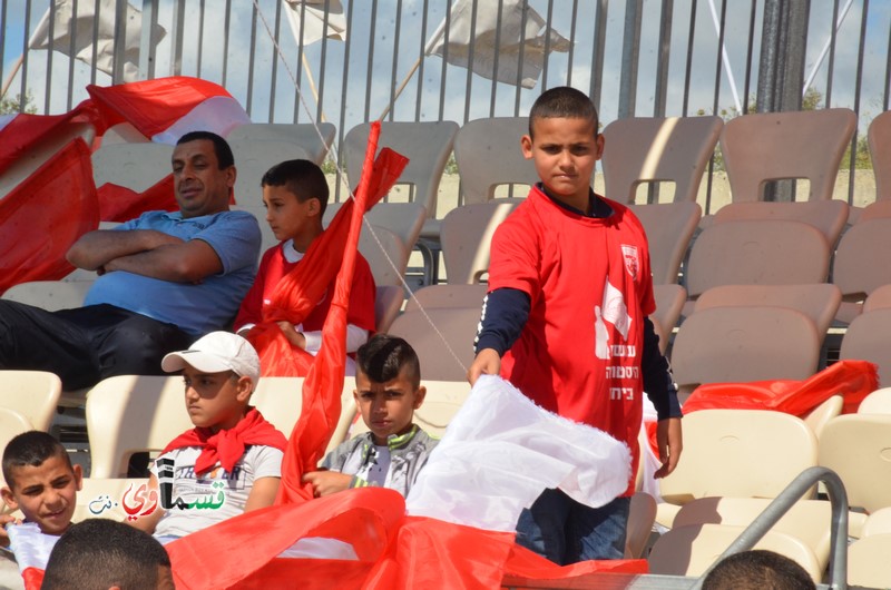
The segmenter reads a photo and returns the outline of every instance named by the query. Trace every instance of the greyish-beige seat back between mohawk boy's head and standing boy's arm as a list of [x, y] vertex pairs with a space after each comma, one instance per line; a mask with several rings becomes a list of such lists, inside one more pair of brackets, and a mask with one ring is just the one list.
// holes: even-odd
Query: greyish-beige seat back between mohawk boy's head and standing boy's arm
[[479, 307], [404, 312], [393, 321], [390, 334], [405, 338], [415, 350], [423, 381], [463, 381], [473, 361], [479, 321]]

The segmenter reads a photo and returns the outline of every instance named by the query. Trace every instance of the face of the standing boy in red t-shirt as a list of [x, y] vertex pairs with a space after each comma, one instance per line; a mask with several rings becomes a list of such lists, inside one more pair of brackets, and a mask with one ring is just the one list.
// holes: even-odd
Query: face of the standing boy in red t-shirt
[[588, 119], [548, 117], [532, 121], [533, 135], [523, 136], [523, 156], [533, 160], [548, 194], [587, 210], [591, 175], [604, 153], [604, 136]]

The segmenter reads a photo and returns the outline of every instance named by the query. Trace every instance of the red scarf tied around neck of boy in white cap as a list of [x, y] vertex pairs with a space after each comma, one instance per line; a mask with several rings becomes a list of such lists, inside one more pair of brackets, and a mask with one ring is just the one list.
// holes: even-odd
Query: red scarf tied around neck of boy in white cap
[[235, 463], [244, 455], [245, 446], [251, 444], [274, 446], [280, 451], [287, 448], [285, 435], [275, 430], [256, 407], [252, 407], [235, 426], [228, 430], [217, 432], [212, 432], [210, 429], [188, 430], [170, 441], [163, 453], [184, 446], [200, 446], [203, 451], [195, 461], [196, 473], [208, 471], [217, 461], [223, 469], [232, 473]]

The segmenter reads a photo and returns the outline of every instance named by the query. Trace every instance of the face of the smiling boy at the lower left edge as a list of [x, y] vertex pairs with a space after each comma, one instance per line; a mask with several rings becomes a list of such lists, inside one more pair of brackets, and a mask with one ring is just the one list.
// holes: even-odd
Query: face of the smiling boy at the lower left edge
[[71, 524], [80, 491], [80, 465], [69, 466], [65, 458], [52, 455], [40, 466], [12, 468], [13, 476], [2, 494], [9, 508], [21, 510], [46, 534], [61, 534]]

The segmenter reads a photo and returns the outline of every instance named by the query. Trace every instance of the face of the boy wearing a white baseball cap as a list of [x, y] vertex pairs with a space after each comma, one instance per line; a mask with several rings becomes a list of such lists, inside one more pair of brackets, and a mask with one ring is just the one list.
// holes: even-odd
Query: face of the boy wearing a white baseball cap
[[196, 426], [217, 432], [233, 427], [244, 417], [251, 397], [251, 378], [239, 377], [232, 371], [202, 373], [186, 365], [183, 381], [188, 417]]

